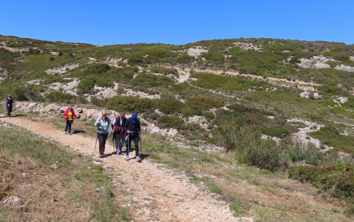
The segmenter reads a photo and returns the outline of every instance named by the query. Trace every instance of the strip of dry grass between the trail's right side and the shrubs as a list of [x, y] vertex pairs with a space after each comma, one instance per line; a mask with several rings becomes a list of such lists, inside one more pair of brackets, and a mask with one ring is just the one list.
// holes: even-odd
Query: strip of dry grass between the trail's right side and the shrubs
[[344, 215], [342, 206], [322, 199], [312, 185], [288, 179], [285, 172], [235, 164], [233, 152], [207, 153], [177, 147], [152, 135], [144, 138], [143, 146], [151, 158], [194, 175], [191, 181], [197, 185], [203, 181], [218, 199], [231, 204], [235, 216], [265, 222], [353, 221]]

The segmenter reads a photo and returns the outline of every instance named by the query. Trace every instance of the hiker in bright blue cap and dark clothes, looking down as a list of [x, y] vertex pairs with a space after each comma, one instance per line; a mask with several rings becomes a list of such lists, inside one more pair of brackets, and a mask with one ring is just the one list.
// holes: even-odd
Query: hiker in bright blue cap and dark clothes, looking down
[[[138, 116], [134, 113], [132, 117], [130, 117], [126, 122], [124, 126], [125, 132], [127, 132], [127, 137], [126, 137], [126, 145], [127, 149], [131, 148], [131, 141], [134, 141], [135, 145], [135, 155], [136, 155], [136, 161], [141, 161], [141, 158], [139, 157], [139, 141], [140, 141], [140, 135], [141, 135], [141, 128], [140, 128], [140, 121], [138, 119]], [[125, 160], [129, 160], [129, 152], [127, 151], [127, 156], [125, 157]]]

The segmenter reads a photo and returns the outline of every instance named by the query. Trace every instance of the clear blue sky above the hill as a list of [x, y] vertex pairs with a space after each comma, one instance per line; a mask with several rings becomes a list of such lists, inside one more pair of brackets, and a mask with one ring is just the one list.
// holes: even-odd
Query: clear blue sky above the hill
[[2, 1], [0, 34], [91, 43], [282, 38], [354, 44], [353, 0]]

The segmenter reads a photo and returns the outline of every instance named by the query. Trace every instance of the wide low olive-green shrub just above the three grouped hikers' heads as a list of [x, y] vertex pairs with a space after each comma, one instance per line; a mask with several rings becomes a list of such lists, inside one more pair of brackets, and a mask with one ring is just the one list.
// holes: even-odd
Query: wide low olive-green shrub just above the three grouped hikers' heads
[[105, 106], [117, 112], [143, 113], [150, 109], [153, 104], [152, 99], [133, 96], [113, 96], [107, 100]]

